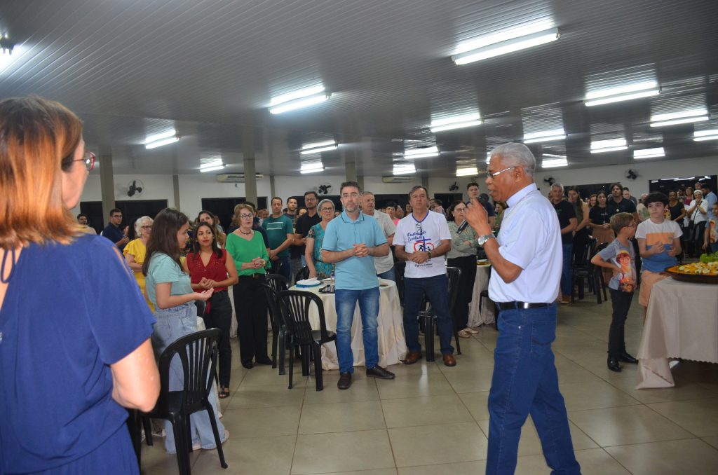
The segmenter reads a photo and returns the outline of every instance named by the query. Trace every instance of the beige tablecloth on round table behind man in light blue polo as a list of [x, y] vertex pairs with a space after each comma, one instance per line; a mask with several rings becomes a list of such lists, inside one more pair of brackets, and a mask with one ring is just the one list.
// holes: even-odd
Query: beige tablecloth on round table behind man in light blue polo
[[[337, 329], [337, 311], [335, 309], [335, 294], [320, 293], [322, 286], [311, 288], [292, 287], [291, 290], [310, 291], [317, 294], [324, 304], [324, 316], [327, 322], [327, 330]], [[319, 329], [319, 315], [316, 307], [310, 309], [312, 328]], [[404, 338], [404, 317], [402, 316], [399, 296], [396, 291], [396, 283], [381, 279], [379, 287], [379, 318], [378, 318], [378, 347], [379, 366], [387, 367], [396, 365], [406, 357], [406, 339]], [[352, 353], [354, 354], [354, 366], [364, 366], [364, 342], [362, 339], [361, 315], [359, 306], [354, 310], [354, 321], [352, 322]], [[322, 369], [338, 370], [337, 346], [334, 342], [322, 345]]]

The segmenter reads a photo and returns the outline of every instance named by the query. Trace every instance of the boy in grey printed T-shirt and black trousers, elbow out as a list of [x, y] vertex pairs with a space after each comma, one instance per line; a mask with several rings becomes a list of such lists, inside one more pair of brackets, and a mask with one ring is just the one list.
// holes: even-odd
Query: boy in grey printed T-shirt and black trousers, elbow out
[[613, 314], [608, 330], [608, 369], [620, 372], [618, 362], [637, 363], [638, 360], [626, 352], [624, 325], [635, 290], [635, 253], [630, 242], [636, 232], [636, 222], [630, 213], [617, 213], [611, 217], [611, 229], [615, 240], [591, 259], [593, 265], [613, 271], [608, 283], [611, 293]]

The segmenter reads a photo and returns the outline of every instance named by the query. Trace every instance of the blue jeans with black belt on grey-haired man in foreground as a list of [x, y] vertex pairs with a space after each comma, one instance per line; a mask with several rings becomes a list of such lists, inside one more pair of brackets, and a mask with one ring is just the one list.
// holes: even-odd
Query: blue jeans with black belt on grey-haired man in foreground
[[554, 365], [556, 304], [503, 310], [489, 392], [486, 474], [513, 474], [521, 426], [531, 414], [551, 474], [580, 474]]

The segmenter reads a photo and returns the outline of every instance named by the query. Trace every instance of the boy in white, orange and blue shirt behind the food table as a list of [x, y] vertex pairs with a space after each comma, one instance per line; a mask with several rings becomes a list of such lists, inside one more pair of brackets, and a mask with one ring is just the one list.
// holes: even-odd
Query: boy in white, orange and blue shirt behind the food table
[[645, 197], [645, 207], [648, 208], [650, 217], [641, 222], [635, 231], [638, 250], [643, 259], [638, 303], [643, 306], [644, 321], [653, 284], [667, 277], [663, 274], [666, 268], [678, 263], [676, 255], [681, 253], [680, 237], [683, 235], [677, 222], [665, 218], [664, 213], [668, 207], [668, 197], [665, 194], [649, 194]]

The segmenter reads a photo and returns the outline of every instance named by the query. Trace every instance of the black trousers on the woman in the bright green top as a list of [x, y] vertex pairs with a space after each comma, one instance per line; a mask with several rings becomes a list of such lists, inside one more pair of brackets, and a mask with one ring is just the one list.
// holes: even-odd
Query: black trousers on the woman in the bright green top
[[267, 356], [267, 302], [264, 296], [264, 276], [239, 276], [232, 288], [237, 314], [239, 360], [251, 363], [252, 359]]

